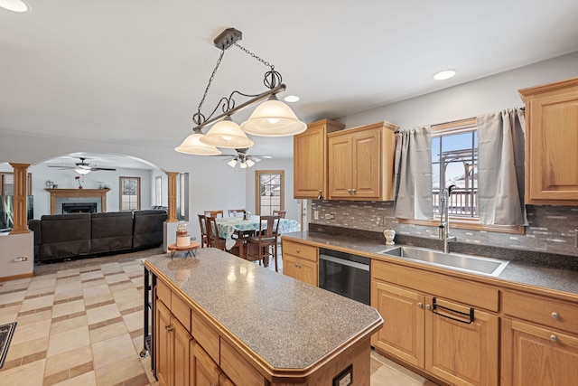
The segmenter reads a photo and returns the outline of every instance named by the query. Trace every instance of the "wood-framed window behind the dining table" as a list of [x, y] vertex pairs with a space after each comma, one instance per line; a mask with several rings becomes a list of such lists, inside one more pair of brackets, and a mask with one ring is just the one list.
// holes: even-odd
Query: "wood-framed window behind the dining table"
[[255, 172], [256, 214], [269, 216], [284, 210], [284, 171], [257, 170]]

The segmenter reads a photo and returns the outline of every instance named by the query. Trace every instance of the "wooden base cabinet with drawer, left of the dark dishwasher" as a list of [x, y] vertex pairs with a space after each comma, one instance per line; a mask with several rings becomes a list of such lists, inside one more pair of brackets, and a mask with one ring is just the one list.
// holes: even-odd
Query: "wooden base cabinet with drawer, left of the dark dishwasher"
[[319, 249], [283, 240], [283, 274], [319, 287]]

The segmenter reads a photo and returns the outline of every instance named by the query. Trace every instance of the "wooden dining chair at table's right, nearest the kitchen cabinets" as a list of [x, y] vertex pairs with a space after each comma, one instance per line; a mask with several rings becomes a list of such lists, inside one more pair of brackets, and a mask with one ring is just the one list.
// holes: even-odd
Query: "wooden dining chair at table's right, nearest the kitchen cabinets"
[[269, 259], [275, 259], [275, 271], [279, 271], [277, 262], [277, 233], [279, 231], [280, 216], [260, 216], [263, 228], [257, 236], [248, 237], [247, 248], [245, 249], [245, 259], [249, 261], [261, 261], [265, 266], [268, 265]]

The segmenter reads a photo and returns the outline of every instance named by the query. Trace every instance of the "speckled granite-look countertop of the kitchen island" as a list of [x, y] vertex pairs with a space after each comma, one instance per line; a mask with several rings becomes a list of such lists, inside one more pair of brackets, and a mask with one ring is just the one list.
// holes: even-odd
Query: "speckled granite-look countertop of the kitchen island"
[[157, 255], [145, 265], [274, 368], [305, 369], [383, 324], [375, 308], [219, 249], [196, 255]]

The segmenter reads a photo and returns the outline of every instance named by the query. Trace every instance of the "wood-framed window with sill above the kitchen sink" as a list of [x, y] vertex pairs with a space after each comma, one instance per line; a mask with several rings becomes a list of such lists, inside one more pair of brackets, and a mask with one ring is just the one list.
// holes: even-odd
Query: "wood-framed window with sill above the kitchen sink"
[[440, 193], [455, 185], [448, 212], [452, 228], [523, 234], [523, 226], [482, 225], [478, 212], [478, 127], [475, 118], [432, 126], [433, 221], [400, 223], [437, 226]]

